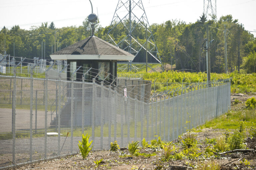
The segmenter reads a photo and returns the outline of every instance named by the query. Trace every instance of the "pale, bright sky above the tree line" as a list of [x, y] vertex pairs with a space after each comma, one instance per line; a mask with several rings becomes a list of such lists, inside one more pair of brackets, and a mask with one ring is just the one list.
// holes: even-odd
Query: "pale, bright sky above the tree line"
[[[118, 0], [91, 0], [102, 27], [110, 25]], [[126, 2], [127, 0], [122, 0]], [[138, 1], [138, 0], [134, 0]], [[206, 0], [205, 0], [206, 1]], [[204, 0], [142, 0], [149, 24], [167, 20], [194, 23], [203, 13]], [[217, 0], [217, 18], [231, 14], [256, 37], [256, 0]], [[91, 13], [89, 0], [0, 0], [0, 29], [54, 22], [57, 28], [80, 26]]]

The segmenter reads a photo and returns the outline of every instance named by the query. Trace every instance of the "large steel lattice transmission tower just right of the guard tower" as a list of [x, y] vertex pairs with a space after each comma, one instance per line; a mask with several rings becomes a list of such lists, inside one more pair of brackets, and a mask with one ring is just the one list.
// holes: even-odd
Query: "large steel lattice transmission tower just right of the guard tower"
[[[113, 39], [113, 34], [115, 34], [114, 30], [118, 27], [123, 27], [126, 33], [126, 36], [120, 41]], [[137, 39], [138, 34], [146, 32], [147, 41], [144, 40], [145, 37], [140, 37], [139, 40]], [[112, 41], [116, 46], [135, 55], [133, 61], [145, 61], [144, 58], [142, 59], [138, 57], [144, 57], [147, 48], [149, 62], [161, 63], [161, 59], [159, 57], [159, 53], [155, 45], [153, 34], [141, 0], [118, 1], [116, 11], [108, 30], [108, 36], [111, 39], [110, 41]], [[131, 64], [132, 61], [130, 61], [130, 68]]]

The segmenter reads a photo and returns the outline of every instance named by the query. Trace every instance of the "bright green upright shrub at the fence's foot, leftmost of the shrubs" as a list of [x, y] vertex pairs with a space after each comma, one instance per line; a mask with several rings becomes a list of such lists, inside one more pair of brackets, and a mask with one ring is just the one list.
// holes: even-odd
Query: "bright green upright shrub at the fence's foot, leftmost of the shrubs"
[[88, 135], [88, 133], [84, 136], [84, 134], [82, 134], [82, 142], [79, 141], [78, 143], [78, 147], [80, 149], [80, 152], [83, 156], [83, 159], [85, 159], [87, 157], [87, 155], [89, 154], [89, 152], [91, 151], [92, 147], [91, 144], [92, 144], [92, 141], [89, 142], [89, 138], [90, 138], [90, 135]]

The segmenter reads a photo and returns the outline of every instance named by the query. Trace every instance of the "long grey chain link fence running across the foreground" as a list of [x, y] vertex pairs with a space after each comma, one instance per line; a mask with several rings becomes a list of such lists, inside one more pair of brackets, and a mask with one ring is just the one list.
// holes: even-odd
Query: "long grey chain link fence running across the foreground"
[[[138, 82], [140, 81], [140, 82]], [[127, 88], [127, 97], [123, 89]], [[171, 141], [228, 111], [230, 80], [196, 83], [150, 95], [151, 82], [66, 81], [0, 76], [0, 169], [79, 152], [88, 133], [93, 149], [117, 140]]]

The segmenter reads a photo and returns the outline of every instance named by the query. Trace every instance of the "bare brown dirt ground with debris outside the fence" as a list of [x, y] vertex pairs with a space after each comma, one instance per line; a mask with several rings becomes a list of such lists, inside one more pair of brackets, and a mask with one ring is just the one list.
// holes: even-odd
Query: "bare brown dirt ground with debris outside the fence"
[[[243, 107], [245, 101], [248, 98], [256, 97], [256, 94], [232, 94], [231, 96], [231, 109], [239, 109]], [[234, 105], [235, 100], [240, 101], [240, 105]], [[243, 105], [242, 105], [243, 104]], [[225, 133], [223, 129], [212, 129], [204, 128], [197, 133], [197, 140], [199, 141], [198, 147], [199, 152], [204, 152], [206, 147], [209, 145], [205, 142], [206, 138], [212, 139], [216, 138]], [[179, 143], [180, 139], [175, 139], [173, 141]], [[214, 160], [211, 158], [197, 159], [197, 160], [188, 160], [181, 159], [177, 161], [162, 161], [162, 151], [156, 151], [155, 156], [149, 158], [144, 156], [133, 156], [133, 157], [122, 157], [120, 155], [129, 154], [128, 150], [110, 152], [109, 150], [103, 151], [92, 151], [89, 153], [86, 159], [83, 159], [81, 154], [70, 155], [66, 157], [60, 157], [56, 159], [40, 161], [37, 163], [26, 164], [16, 168], [10, 169], [23, 169], [23, 170], [32, 170], [32, 169], [113, 169], [113, 170], [127, 170], [127, 169], [140, 169], [140, 170], [154, 170], [154, 169], [171, 169], [171, 165], [185, 166], [187, 169], [198, 169], [192, 168], [191, 165], [205, 164], [207, 162], [218, 163], [222, 170], [233, 170], [233, 169], [256, 169], [256, 139], [247, 138], [246, 139], [247, 147], [254, 149], [252, 152], [235, 152], [225, 155], [221, 155]], [[152, 149], [146, 148], [141, 149], [140, 153], [153, 153]], [[246, 159], [250, 162], [250, 165], [245, 165], [241, 163], [243, 159]], [[100, 165], [96, 168], [94, 161], [103, 159]], [[190, 164], [190, 166], [189, 166]], [[195, 166], [196, 167], [196, 166]]]

